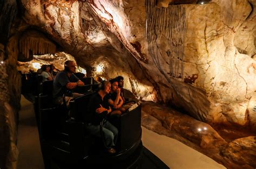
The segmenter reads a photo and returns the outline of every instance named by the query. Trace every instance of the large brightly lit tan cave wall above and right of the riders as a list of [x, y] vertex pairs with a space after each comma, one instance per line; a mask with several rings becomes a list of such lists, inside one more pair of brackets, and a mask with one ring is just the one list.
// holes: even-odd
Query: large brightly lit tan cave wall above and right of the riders
[[255, 1], [163, 9], [151, 0], [36, 2], [22, 1], [26, 22], [78, 65], [106, 65], [102, 76], [120, 72], [138, 97], [172, 103], [200, 121], [254, 126], [247, 105], [256, 90]]

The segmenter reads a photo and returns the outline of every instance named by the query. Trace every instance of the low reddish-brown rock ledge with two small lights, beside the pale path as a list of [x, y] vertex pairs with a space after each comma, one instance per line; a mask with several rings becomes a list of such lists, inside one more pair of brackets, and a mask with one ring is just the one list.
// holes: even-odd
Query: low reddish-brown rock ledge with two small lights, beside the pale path
[[224, 139], [207, 123], [153, 102], [143, 102], [142, 125], [193, 147], [227, 168], [256, 166], [255, 136], [243, 137], [246, 134], [239, 130], [223, 127], [226, 133], [230, 132]]

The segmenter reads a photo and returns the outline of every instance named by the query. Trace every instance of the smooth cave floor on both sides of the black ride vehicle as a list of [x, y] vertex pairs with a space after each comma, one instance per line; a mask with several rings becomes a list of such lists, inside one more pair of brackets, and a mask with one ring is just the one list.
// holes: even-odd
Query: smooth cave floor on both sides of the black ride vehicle
[[[178, 140], [143, 129], [143, 144], [170, 168], [225, 168]], [[18, 169], [44, 168], [33, 104], [22, 95], [18, 125]]]

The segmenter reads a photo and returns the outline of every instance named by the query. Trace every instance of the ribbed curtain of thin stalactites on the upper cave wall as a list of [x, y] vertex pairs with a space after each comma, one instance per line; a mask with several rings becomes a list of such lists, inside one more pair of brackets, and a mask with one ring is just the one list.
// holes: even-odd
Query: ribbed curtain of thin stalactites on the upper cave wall
[[168, 8], [157, 8], [155, 0], [146, 1], [147, 12], [147, 41], [153, 60], [160, 71], [159, 59], [161, 52], [158, 41], [161, 36], [168, 40], [170, 48], [166, 54], [170, 58], [170, 75], [174, 78], [183, 79], [183, 50], [186, 31], [185, 7], [183, 5], [169, 5]]

